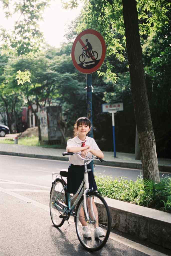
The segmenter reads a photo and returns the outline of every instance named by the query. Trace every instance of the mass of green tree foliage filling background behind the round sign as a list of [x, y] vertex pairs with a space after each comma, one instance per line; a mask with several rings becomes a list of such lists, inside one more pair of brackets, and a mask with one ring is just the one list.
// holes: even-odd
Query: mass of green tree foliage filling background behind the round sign
[[[68, 29], [66, 37], [69, 42], [63, 44], [58, 50], [51, 47], [45, 52], [39, 52], [37, 58], [35, 58], [36, 52], [40, 49], [43, 36], [38, 27], [38, 20], [42, 17], [43, 8], [46, 8], [50, 1], [1, 1], [4, 7], [8, 7], [13, 2], [18, 17], [21, 15], [12, 30], [13, 33], [2, 30], [1, 35], [4, 39], [2, 52], [22, 55], [22, 58], [14, 62], [11, 59], [8, 63], [13, 66], [14, 74], [18, 70], [29, 71], [32, 79], [31, 83], [27, 81], [23, 85], [17, 85], [14, 79], [15, 74], [13, 87], [18, 88], [19, 93], [21, 90], [27, 95], [27, 92], [29, 100], [38, 102], [41, 107], [45, 104], [62, 105], [68, 136], [72, 135], [71, 127], [75, 119], [80, 115], [86, 115], [86, 90], [84, 90], [86, 80], [85, 75], [77, 72], [72, 65], [70, 57], [72, 42], [79, 32], [87, 28], [98, 30], [103, 35], [107, 45], [106, 59], [98, 74], [95, 72], [92, 77], [94, 136], [99, 140], [98, 143], [101, 143], [100, 146], [106, 145], [104, 150], [112, 150], [111, 117], [109, 114], [101, 113], [101, 104], [122, 101], [124, 111], [117, 113], [115, 117], [116, 147], [117, 151], [133, 153], [135, 118], [128, 75], [122, 1], [86, 1], [80, 16]], [[65, 3], [65, 8], [75, 8], [78, 1], [65, 1]], [[170, 1], [140, 0], [137, 1], [137, 9], [157, 153], [158, 156], [169, 157]], [[6, 15], [11, 14], [7, 11]], [[32, 59], [25, 58], [24, 54]], [[8, 58], [5, 55], [1, 56], [1, 86], [4, 84], [3, 66], [6, 65]], [[106, 123], [109, 124], [108, 132], [106, 132]]]

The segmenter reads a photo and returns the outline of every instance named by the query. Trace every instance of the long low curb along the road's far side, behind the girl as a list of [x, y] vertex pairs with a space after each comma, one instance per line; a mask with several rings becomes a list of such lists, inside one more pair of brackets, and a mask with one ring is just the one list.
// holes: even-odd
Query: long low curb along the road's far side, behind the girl
[[[65, 156], [50, 156], [50, 155], [38, 155], [38, 154], [27, 154], [27, 153], [16, 153], [16, 152], [5, 152], [5, 151], [0, 151], [0, 155], [22, 156], [22, 157], [31, 157], [31, 158], [40, 158], [40, 159], [68, 161], [68, 157], [65, 157]], [[94, 164], [142, 170], [141, 163], [117, 162], [117, 161], [100, 162], [100, 161], [94, 160]], [[158, 168], [159, 168], [159, 172], [171, 173], [171, 166], [169, 165], [158, 165]]]

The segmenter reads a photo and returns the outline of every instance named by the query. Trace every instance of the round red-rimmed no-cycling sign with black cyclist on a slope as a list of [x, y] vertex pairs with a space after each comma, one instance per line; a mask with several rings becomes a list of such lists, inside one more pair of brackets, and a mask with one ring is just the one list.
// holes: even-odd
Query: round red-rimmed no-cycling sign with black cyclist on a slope
[[76, 37], [71, 51], [74, 67], [86, 74], [95, 72], [102, 65], [105, 55], [105, 40], [93, 29], [82, 31]]

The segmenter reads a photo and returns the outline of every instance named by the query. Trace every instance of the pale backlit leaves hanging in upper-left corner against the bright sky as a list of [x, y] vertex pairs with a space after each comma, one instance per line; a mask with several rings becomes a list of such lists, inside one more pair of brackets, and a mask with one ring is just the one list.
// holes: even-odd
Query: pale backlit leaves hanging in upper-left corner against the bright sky
[[14, 13], [18, 14], [18, 19], [10, 31], [1, 27], [2, 54], [32, 56], [41, 46], [43, 33], [39, 29], [38, 21], [42, 19], [44, 8], [49, 5], [50, 0], [1, 0], [1, 2], [6, 18]]

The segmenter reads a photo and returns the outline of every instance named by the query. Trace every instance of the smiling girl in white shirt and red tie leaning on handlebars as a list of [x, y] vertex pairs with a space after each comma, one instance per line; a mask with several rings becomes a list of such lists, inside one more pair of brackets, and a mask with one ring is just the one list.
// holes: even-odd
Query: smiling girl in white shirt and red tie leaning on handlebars
[[[93, 155], [104, 158], [103, 153], [99, 149], [93, 138], [90, 138], [87, 133], [91, 129], [90, 120], [86, 117], [80, 117], [77, 119], [74, 125], [74, 138], [69, 139], [67, 141], [66, 150], [67, 152], [80, 153], [83, 158], [89, 157], [92, 158]], [[67, 178], [67, 190], [71, 194], [75, 194], [81, 185], [84, 179], [84, 161], [79, 158], [78, 155], [72, 155], [69, 159], [70, 166], [68, 168], [68, 178]], [[87, 165], [88, 169], [92, 169], [91, 165]], [[94, 180], [93, 170], [92, 172], [88, 172], [88, 181], [89, 181], [89, 189], [93, 188], [93, 190], [97, 190], [97, 185]], [[97, 212], [97, 208], [93, 203], [94, 212]], [[82, 209], [82, 216], [84, 215], [84, 211]], [[86, 238], [90, 238], [90, 231], [87, 228], [87, 223], [84, 218], [80, 219], [83, 226], [83, 236]], [[98, 227], [98, 217], [95, 224], [94, 236], [104, 237], [104, 231]]]

